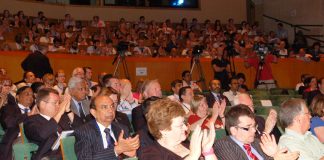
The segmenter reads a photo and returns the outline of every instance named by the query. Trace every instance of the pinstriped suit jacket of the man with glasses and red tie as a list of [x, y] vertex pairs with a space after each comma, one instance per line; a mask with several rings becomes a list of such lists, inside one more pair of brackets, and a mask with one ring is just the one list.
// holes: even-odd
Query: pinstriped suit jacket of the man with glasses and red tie
[[[259, 143], [260, 141], [258, 139], [255, 139], [251, 145], [264, 159], [272, 159], [271, 157], [263, 153]], [[220, 140], [216, 140], [213, 148], [218, 159], [249, 160], [242, 148], [238, 144], [236, 144], [229, 136], [226, 136]]]

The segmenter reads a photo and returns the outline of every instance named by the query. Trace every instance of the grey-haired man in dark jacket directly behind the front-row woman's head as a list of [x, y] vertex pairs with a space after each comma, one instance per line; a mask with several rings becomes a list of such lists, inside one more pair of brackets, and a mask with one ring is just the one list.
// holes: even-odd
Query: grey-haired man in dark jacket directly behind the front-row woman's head
[[[142, 85], [143, 99], [149, 97], [162, 97], [161, 86], [158, 80], [146, 80]], [[146, 120], [143, 114], [143, 106], [139, 105], [132, 110], [132, 124], [134, 131], [140, 130], [143, 126], [146, 126]]]

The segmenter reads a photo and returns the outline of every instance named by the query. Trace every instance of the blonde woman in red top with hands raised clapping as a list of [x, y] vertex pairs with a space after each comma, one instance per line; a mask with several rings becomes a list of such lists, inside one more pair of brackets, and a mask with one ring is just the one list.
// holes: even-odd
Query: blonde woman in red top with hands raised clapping
[[[195, 124], [202, 123], [202, 129], [208, 129], [209, 123], [215, 123], [215, 128], [224, 128], [224, 111], [226, 107], [226, 102], [223, 100], [221, 104], [215, 102], [212, 109], [211, 117], [208, 117], [208, 105], [206, 98], [202, 95], [196, 95], [192, 100], [192, 111], [194, 114], [190, 115], [188, 118], [188, 123], [191, 125], [191, 128], [194, 128]], [[218, 119], [218, 116], [220, 119]], [[204, 119], [203, 122], [199, 120]]]

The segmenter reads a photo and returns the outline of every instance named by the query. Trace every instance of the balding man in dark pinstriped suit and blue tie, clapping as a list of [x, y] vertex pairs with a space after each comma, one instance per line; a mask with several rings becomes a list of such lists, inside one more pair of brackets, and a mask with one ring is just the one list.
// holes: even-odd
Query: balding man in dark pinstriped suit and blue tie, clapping
[[75, 152], [79, 160], [111, 159], [126, 155], [133, 157], [139, 147], [139, 137], [129, 137], [126, 126], [114, 121], [115, 105], [106, 95], [99, 95], [91, 103], [95, 117], [75, 130]]

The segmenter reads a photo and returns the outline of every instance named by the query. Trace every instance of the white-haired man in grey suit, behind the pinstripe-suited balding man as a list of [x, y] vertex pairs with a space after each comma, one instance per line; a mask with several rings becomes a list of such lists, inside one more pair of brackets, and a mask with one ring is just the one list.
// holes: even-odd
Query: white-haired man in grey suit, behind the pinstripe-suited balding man
[[89, 121], [90, 115], [90, 101], [86, 98], [87, 86], [86, 81], [79, 77], [72, 77], [68, 83], [68, 90], [72, 97], [71, 111], [78, 115], [83, 122]]

